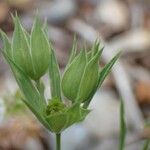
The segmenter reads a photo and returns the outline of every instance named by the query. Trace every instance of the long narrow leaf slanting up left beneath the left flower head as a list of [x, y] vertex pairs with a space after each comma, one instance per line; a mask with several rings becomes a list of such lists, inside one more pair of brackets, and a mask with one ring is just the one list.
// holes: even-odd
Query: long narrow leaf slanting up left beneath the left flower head
[[19, 88], [23, 95], [25, 96], [26, 103], [31, 105], [35, 111], [42, 114], [45, 110], [46, 103], [42, 99], [38, 90], [34, 87], [31, 80], [25, 73], [7, 56], [6, 53], [2, 52], [5, 59], [9, 63], [13, 75], [19, 85]]

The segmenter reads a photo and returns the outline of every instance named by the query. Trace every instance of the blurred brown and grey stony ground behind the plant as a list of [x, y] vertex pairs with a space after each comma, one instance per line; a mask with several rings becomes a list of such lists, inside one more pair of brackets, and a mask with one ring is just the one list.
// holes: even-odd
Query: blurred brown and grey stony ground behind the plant
[[[144, 139], [150, 138], [150, 128], [144, 128], [150, 122], [150, 1], [0, 0], [0, 29], [12, 37], [11, 13], [17, 11], [30, 32], [37, 10], [41, 20], [48, 22], [48, 35], [62, 72], [75, 34], [79, 50], [85, 44], [90, 49], [96, 38], [101, 39], [105, 49], [100, 67], [123, 50], [93, 98], [93, 111], [82, 124], [64, 132], [62, 150], [116, 150], [120, 97], [126, 108], [126, 150], [141, 150]], [[48, 77], [44, 80], [48, 87]], [[0, 150], [54, 150], [54, 138], [20, 100], [0, 54]]]

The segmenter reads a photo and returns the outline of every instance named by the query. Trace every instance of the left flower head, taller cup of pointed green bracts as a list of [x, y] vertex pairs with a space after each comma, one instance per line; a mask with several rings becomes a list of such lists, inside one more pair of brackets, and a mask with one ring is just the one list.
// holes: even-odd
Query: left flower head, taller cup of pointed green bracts
[[15, 17], [13, 40], [10, 42], [2, 33], [4, 50], [7, 55], [33, 80], [38, 80], [48, 69], [51, 48], [41, 23], [36, 18], [31, 35], [22, 27], [19, 18]]

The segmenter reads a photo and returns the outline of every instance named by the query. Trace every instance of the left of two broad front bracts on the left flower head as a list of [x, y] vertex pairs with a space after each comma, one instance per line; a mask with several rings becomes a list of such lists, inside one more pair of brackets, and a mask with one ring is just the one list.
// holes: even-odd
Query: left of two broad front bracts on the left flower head
[[12, 60], [22, 71], [29, 76], [34, 76], [35, 72], [31, 61], [30, 47], [26, 36], [27, 33], [22, 27], [19, 18], [16, 16], [16, 18], [13, 19], [15, 30], [12, 40]]

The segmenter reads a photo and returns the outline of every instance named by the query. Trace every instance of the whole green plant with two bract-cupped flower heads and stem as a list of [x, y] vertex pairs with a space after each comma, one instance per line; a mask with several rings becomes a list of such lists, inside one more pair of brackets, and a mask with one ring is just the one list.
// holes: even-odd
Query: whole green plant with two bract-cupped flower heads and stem
[[[71, 125], [83, 121], [90, 113], [88, 106], [96, 92], [120, 56], [118, 52], [104, 68], [99, 67], [103, 51], [98, 40], [92, 49], [82, 49], [77, 54], [74, 40], [70, 59], [63, 75], [60, 75], [54, 49], [48, 40], [45, 25], [36, 17], [31, 34], [21, 25], [18, 16], [13, 17], [12, 41], [1, 31], [1, 50], [22, 92], [22, 100], [37, 119], [56, 134], [56, 149], [61, 149], [61, 133]], [[49, 72], [51, 98], [44, 96], [41, 77]], [[64, 102], [64, 98], [69, 103]]]

